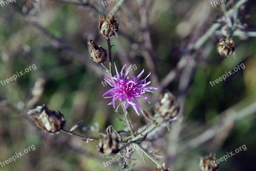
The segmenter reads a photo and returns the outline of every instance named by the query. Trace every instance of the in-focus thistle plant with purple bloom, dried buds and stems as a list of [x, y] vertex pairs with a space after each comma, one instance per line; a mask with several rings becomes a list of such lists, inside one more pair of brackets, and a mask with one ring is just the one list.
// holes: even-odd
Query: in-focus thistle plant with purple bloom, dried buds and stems
[[[147, 156], [156, 164], [156, 170], [169, 170], [165, 167], [165, 164], [161, 164], [157, 159], [162, 158], [157, 156], [154, 153], [157, 150], [149, 151], [140, 145], [143, 141], [147, 140], [147, 135], [156, 127], [161, 124], [166, 124], [166, 127], [170, 129], [170, 123], [176, 119], [177, 114], [180, 110], [180, 105], [176, 102], [175, 97], [172, 93], [167, 92], [164, 95], [159, 96], [159, 102], [156, 103], [156, 115], [153, 118], [145, 110], [142, 109], [138, 99], [146, 100], [149, 104], [149, 100], [146, 96], [147, 92], [152, 92], [155, 87], [148, 86], [151, 82], [147, 82], [146, 79], [149, 77], [150, 73], [144, 78], [141, 79], [144, 69], [138, 76], [128, 76], [129, 69], [132, 65], [128, 67], [124, 73], [124, 68], [126, 64], [122, 67], [121, 73], [119, 75], [118, 69], [116, 67], [116, 62], [114, 62], [116, 76], [113, 76], [112, 71], [112, 59], [111, 59], [111, 48], [113, 45], [110, 44], [110, 37], [117, 36], [119, 23], [117, 22], [115, 15], [110, 14], [108, 17], [103, 16], [103, 19], [100, 17], [99, 20], [99, 34], [103, 35], [107, 39], [108, 44], [108, 56], [109, 56], [109, 68], [104, 64], [107, 60], [106, 50], [98, 46], [93, 40], [88, 40], [88, 44], [91, 46], [91, 59], [97, 64], [101, 64], [106, 69], [106, 76], [104, 80], [113, 87], [109, 89], [106, 93], [103, 94], [104, 98], [113, 98], [112, 102], [108, 105], [113, 105], [115, 108], [115, 102], [118, 100], [118, 105], [116, 107], [116, 112], [118, 112], [118, 107], [122, 105], [123, 113], [120, 113], [123, 117], [124, 124], [130, 130], [130, 133], [126, 137], [121, 136], [118, 132], [123, 132], [124, 130], [116, 131], [112, 126], [108, 126], [106, 134], [100, 134], [100, 137], [92, 137], [74, 133], [74, 130], [79, 127], [82, 121], [79, 121], [75, 124], [70, 131], [64, 128], [65, 120], [64, 116], [60, 111], [51, 111], [45, 105], [37, 106], [36, 109], [32, 109], [28, 112], [30, 118], [35, 121], [36, 125], [43, 129], [45, 132], [50, 133], [59, 133], [62, 131], [69, 135], [80, 136], [84, 141], [88, 140], [99, 140], [98, 152], [103, 153], [104, 155], [113, 155], [121, 151], [127, 153], [127, 149], [131, 144], [135, 144], [141, 150], [142, 157]], [[109, 95], [109, 96], [106, 96]], [[151, 121], [151, 125], [147, 127], [139, 128], [138, 130], [134, 129], [133, 123], [130, 119], [130, 114], [127, 111], [129, 106], [132, 106], [135, 112], [140, 117], [140, 113], [143, 116]], [[163, 127], [164, 128], [164, 127]], [[113, 131], [114, 130], [114, 131]], [[124, 131], [125, 132], [125, 131]], [[129, 155], [126, 155], [124, 158], [124, 165], [122, 168], [126, 168], [130, 161]], [[145, 159], [144, 159], [145, 161]], [[134, 165], [133, 165], [134, 166]], [[132, 167], [130, 167], [132, 169]]]

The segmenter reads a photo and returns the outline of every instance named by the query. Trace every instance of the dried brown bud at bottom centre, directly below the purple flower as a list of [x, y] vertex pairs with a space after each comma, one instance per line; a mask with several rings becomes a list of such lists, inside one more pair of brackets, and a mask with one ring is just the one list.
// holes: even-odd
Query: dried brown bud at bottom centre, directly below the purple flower
[[112, 132], [112, 127], [107, 128], [107, 134], [100, 136], [100, 142], [98, 144], [99, 151], [104, 154], [116, 154], [118, 152], [118, 138], [116, 133]]

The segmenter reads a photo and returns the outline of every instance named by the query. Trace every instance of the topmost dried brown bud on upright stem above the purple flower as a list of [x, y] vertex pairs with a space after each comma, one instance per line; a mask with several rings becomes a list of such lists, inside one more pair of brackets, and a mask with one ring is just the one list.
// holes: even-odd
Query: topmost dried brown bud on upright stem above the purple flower
[[103, 16], [103, 19], [100, 17], [99, 20], [99, 34], [105, 37], [117, 36], [116, 32], [118, 31], [119, 23], [115, 19], [115, 15], [112, 13], [106, 19], [106, 16]]

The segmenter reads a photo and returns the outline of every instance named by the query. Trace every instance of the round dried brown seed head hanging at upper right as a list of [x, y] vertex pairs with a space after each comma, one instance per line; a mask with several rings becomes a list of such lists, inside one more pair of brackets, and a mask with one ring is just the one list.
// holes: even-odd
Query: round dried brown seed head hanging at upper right
[[224, 39], [220, 39], [219, 43], [217, 43], [217, 52], [224, 57], [227, 57], [228, 55], [231, 55], [234, 50], [235, 42], [233, 41], [232, 38], [226, 38]]

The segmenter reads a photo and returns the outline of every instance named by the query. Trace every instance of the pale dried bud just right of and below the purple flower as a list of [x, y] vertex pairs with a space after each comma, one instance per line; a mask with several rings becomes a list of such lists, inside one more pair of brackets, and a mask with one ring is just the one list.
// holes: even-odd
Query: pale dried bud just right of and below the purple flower
[[165, 120], [174, 119], [180, 111], [180, 104], [176, 102], [176, 98], [171, 92], [160, 94], [158, 102], [155, 105], [157, 115]]

